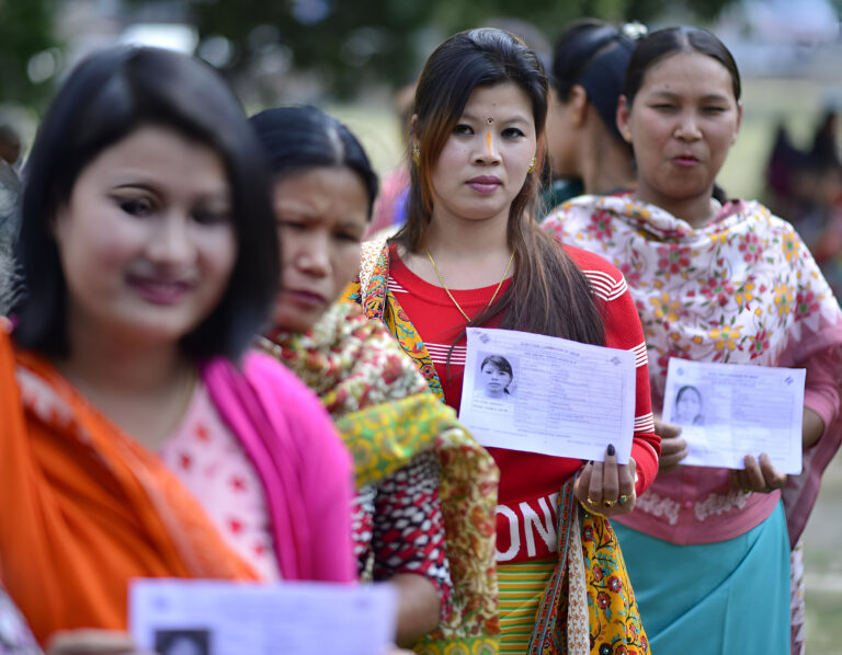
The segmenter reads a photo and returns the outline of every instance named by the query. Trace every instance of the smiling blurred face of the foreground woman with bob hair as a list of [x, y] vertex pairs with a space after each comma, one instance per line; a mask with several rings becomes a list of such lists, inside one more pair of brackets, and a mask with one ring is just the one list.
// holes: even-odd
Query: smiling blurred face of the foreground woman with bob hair
[[54, 234], [71, 340], [174, 344], [213, 312], [237, 258], [221, 159], [164, 127], [140, 127], [88, 164]]

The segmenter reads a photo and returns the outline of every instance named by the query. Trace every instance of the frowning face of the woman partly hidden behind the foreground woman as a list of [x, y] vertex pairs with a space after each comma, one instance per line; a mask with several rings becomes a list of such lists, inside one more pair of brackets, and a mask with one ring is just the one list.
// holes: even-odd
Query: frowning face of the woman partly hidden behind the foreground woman
[[357, 272], [368, 195], [350, 169], [321, 166], [278, 180], [274, 202], [283, 262], [274, 323], [303, 332]]

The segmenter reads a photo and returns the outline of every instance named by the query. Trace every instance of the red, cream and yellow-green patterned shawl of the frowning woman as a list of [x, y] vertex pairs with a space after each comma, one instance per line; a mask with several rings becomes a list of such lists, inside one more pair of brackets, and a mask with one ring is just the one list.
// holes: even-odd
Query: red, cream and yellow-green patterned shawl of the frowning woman
[[434, 450], [451, 565], [453, 612], [419, 653], [497, 653], [494, 507], [491, 457], [429, 392], [384, 326], [354, 304], [334, 306], [306, 334], [273, 333], [261, 347], [298, 375], [333, 417], [362, 486]]

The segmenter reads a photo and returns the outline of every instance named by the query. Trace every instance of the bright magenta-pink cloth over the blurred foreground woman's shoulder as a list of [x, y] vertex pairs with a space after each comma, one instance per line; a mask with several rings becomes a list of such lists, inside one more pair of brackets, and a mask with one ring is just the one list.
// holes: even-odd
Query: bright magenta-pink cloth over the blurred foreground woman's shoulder
[[355, 581], [351, 459], [319, 400], [258, 353], [242, 372], [214, 359], [203, 378], [263, 483], [283, 578]]

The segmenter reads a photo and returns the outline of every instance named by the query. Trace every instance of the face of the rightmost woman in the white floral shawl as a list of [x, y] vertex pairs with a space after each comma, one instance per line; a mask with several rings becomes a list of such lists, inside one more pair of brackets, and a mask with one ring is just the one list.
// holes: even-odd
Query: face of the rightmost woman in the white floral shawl
[[664, 207], [709, 197], [741, 117], [731, 76], [713, 57], [676, 53], [655, 64], [634, 104], [621, 97], [617, 112], [635, 150], [638, 197]]

